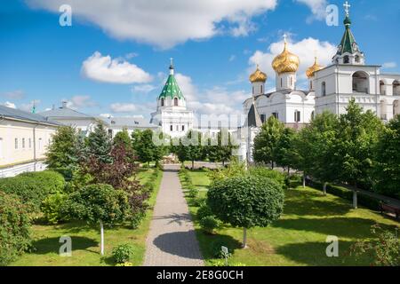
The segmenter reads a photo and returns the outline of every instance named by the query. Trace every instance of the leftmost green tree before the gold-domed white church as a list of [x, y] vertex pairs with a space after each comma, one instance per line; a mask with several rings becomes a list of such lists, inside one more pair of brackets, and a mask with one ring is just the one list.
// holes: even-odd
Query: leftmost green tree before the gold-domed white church
[[260, 133], [254, 138], [253, 159], [255, 162], [270, 163], [274, 169], [277, 154], [277, 142], [284, 130], [284, 123], [275, 116], [270, 116], [261, 127]]

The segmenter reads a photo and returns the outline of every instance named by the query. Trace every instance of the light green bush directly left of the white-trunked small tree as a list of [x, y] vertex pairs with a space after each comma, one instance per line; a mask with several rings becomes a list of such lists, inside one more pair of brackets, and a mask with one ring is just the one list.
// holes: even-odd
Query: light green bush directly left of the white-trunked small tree
[[49, 224], [68, 221], [68, 217], [63, 216], [60, 210], [67, 198], [67, 195], [64, 193], [53, 193], [44, 199], [40, 209], [44, 213], [44, 219]]

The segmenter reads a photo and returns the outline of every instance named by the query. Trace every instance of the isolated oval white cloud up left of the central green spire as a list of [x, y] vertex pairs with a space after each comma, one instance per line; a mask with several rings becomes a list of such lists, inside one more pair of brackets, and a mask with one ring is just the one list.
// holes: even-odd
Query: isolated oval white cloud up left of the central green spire
[[101, 56], [99, 51], [84, 60], [82, 74], [104, 83], [148, 83], [152, 80], [140, 67], [121, 59], [111, 59], [109, 55]]

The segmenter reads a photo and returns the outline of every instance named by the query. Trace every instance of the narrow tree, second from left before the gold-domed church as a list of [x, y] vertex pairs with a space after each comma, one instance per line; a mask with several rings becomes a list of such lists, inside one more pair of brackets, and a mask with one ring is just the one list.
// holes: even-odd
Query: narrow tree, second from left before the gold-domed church
[[288, 173], [294, 167], [294, 139], [296, 138], [295, 130], [292, 128], [284, 128], [280, 137], [276, 142], [276, 164], [286, 167]]

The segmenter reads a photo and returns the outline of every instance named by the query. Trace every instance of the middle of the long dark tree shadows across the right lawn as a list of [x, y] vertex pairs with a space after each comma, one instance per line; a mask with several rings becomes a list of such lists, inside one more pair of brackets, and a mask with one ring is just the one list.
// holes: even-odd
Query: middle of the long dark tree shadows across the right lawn
[[[273, 227], [284, 228], [287, 230], [308, 231], [347, 237], [354, 239], [371, 238], [371, 226], [377, 222], [357, 217], [326, 217], [326, 218], [303, 218], [281, 219], [274, 222]], [[392, 225], [379, 223], [384, 230], [393, 229]]]

